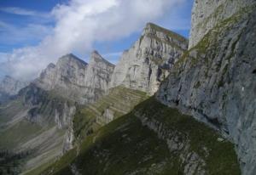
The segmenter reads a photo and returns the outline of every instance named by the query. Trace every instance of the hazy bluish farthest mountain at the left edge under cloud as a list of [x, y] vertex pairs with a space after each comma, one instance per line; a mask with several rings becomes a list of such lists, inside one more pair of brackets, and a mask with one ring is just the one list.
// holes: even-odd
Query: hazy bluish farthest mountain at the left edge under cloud
[[0, 82], [0, 103], [16, 95], [20, 89], [26, 87], [27, 84], [27, 82], [20, 82], [11, 76], [4, 76], [2, 82]]

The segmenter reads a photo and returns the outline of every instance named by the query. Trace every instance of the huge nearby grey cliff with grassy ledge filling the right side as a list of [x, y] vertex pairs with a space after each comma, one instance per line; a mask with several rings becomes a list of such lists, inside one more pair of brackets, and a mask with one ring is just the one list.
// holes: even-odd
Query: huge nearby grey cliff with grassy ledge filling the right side
[[195, 1], [189, 52], [157, 93], [230, 137], [248, 175], [256, 173], [255, 12], [255, 1]]

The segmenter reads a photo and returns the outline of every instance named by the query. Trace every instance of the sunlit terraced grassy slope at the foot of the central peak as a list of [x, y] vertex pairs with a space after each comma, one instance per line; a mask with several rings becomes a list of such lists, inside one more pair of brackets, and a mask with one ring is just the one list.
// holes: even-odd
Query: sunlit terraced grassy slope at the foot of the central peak
[[110, 89], [108, 95], [99, 99], [89, 106], [81, 106], [73, 119], [73, 129], [75, 138], [80, 140], [86, 135], [95, 132], [98, 128], [107, 124], [103, 116], [105, 110], [113, 112], [113, 118], [124, 116], [130, 112], [134, 106], [147, 99], [146, 93], [124, 87]]

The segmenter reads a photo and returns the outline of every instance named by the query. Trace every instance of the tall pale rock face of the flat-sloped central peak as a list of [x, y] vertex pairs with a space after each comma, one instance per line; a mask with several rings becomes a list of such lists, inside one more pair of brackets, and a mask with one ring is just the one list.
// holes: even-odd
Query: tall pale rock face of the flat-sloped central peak
[[155, 93], [187, 45], [184, 37], [148, 23], [142, 37], [124, 52], [116, 65], [110, 87], [123, 85]]

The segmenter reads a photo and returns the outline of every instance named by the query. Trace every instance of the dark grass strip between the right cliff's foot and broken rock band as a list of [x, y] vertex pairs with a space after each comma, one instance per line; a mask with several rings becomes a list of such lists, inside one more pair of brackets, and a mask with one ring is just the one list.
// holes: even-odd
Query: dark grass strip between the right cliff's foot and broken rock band
[[[210, 174], [240, 174], [234, 144], [224, 140], [219, 142], [221, 135], [204, 123], [196, 121], [191, 116], [182, 115], [178, 110], [168, 108], [151, 98], [137, 106], [140, 114], [148, 119], [156, 119], [170, 131], [179, 131], [181, 140], [189, 138], [190, 150], [201, 155], [207, 162]], [[206, 152], [203, 148], [207, 148]]]

